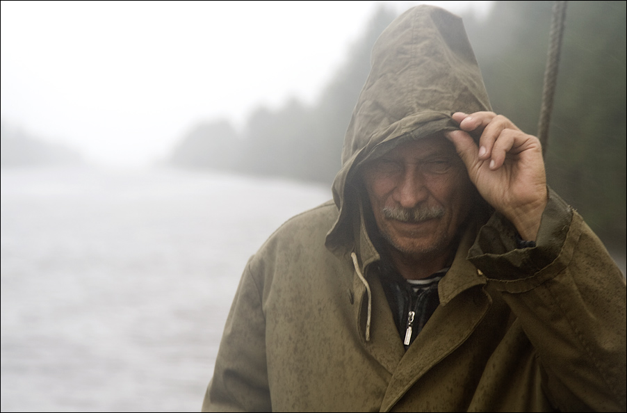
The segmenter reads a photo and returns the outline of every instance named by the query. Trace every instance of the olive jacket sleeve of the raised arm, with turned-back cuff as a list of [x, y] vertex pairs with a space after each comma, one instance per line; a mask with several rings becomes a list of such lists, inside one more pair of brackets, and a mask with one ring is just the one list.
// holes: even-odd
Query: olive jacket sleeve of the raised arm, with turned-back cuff
[[557, 410], [626, 410], [626, 284], [581, 216], [549, 190], [536, 246], [495, 214], [469, 260], [518, 317]]

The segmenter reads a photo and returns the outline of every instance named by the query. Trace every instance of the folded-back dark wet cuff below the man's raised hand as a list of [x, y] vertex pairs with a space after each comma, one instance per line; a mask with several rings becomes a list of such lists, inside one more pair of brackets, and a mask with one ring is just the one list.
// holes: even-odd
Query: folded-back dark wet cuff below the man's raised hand
[[489, 279], [521, 280], [555, 261], [569, 231], [573, 210], [551, 188], [535, 246], [519, 248], [516, 228], [494, 213], [469, 250], [468, 259]]

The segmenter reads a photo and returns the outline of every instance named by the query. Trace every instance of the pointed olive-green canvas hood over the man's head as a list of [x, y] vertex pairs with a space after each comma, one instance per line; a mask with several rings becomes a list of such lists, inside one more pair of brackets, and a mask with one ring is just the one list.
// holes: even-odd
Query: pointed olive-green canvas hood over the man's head
[[327, 234], [327, 248], [342, 254], [353, 248], [360, 163], [391, 149], [399, 138], [458, 129], [451, 118], [457, 111], [490, 110], [462, 19], [433, 6], [416, 6], [397, 17], [375, 42], [371, 72], [346, 131], [342, 168], [333, 183], [339, 216]]

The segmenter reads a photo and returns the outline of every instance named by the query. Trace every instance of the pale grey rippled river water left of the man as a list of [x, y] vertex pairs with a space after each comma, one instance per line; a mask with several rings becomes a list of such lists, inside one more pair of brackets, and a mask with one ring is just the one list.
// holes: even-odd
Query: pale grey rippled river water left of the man
[[181, 170], [1, 172], [1, 410], [198, 411], [245, 263], [330, 189]]

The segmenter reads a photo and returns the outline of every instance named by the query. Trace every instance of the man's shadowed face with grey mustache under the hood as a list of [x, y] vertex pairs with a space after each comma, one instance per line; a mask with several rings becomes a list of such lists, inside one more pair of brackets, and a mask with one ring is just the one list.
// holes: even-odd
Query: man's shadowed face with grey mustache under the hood
[[366, 163], [363, 177], [377, 227], [392, 248], [416, 259], [455, 246], [474, 191], [446, 138], [401, 143]]

